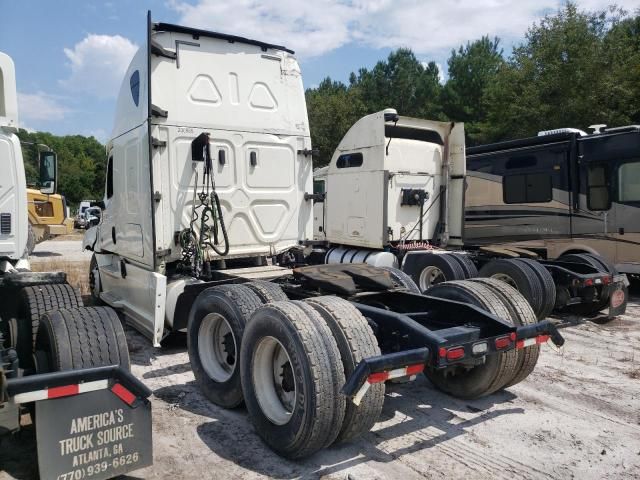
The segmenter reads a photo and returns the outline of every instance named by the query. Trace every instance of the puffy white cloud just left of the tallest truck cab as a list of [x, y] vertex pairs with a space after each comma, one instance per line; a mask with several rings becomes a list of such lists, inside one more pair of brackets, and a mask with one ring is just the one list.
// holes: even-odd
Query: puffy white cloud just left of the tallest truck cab
[[64, 49], [71, 75], [61, 83], [73, 91], [113, 98], [137, 49], [120, 35], [89, 34], [73, 48]]

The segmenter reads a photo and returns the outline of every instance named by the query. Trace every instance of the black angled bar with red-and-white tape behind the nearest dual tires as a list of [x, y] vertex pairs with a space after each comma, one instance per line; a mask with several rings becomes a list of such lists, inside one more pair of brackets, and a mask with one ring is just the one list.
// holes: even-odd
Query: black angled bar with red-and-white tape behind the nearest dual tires
[[365, 358], [347, 379], [342, 393], [359, 405], [372, 384], [415, 376], [424, 370], [428, 358], [426, 347]]

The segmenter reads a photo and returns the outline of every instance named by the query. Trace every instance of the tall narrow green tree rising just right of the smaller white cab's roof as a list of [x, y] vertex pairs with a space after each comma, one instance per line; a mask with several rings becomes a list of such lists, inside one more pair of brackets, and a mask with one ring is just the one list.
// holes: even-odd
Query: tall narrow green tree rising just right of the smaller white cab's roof
[[489, 110], [487, 88], [496, 80], [505, 60], [500, 40], [488, 36], [452, 50], [447, 61], [449, 78], [442, 90], [442, 106], [451, 120], [465, 122], [471, 144], [482, 143], [481, 124]]

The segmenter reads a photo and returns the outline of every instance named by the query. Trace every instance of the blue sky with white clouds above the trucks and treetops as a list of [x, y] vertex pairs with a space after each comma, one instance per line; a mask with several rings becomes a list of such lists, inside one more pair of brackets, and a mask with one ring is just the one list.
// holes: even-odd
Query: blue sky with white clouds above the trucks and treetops
[[[585, 9], [606, 2], [581, 0]], [[638, 0], [618, 0], [629, 10]], [[144, 44], [146, 12], [295, 50], [305, 86], [346, 81], [398, 47], [446, 70], [452, 48], [484, 34], [505, 52], [561, 0], [0, 0], [0, 51], [16, 64], [20, 123], [56, 134], [111, 131], [121, 77]], [[446, 71], [443, 71], [446, 76]]]

